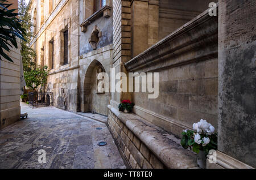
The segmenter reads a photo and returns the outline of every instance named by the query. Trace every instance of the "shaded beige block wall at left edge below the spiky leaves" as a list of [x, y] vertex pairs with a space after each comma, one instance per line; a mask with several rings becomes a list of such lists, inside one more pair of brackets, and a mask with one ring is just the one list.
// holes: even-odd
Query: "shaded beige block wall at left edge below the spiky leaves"
[[[0, 60], [0, 129], [20, 119], [20, 40], [18, 48], [5, 53], [13, 60]], [[2, 57], [1, 57], [2, 58]], [[22, 67], [22, 66], [21, 66]]]

